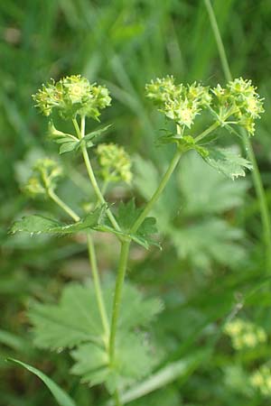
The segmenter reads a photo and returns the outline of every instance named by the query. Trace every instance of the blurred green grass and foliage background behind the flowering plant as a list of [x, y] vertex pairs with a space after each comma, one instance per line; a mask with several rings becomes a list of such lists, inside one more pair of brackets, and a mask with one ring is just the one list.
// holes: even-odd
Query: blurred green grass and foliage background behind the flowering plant
[[[233, 76], [252, 78], [265, 97], [266, 114], [257, 124], [253, 145], [270, 207], [271, 2], [212, 3]], [[0, 405], [54, 404], [42, 383], [4, 362], [9, 355], [38, 365], [79, 406], [96, 405], [103, 393], [79, 385], [67, 374], [68, 356], [33, 349], [25, 317], [33, 297], [53, 300], [67, 281], [88, 277], [84, 241], [7, 235], [14, 218], [25, 213], [54, 211], [61, 216], [51, 203], [31, 201], [21, 192], [33, 160], [45, 153], [56, 155], [56, 147], [46, 138], [47, 121], [34, 109], [31, 95], [50, 78], [70, 74], [106, 84], [113, 102], [102, 119], [114, 123], [108, 137], [124, 144], [135, 162], [135, 189], [119, 188], [109, 198], [135, 195], [140, 203], [154, 189], [172, 153], [171, 148], [154, 146], [164, 121], [145, 101], [145, 83], [173, 74], [181, 82], [223, 84], [218, 51], [202, 0], [5, 0], [0, 3], [0, 22], [0, 305], [4, 309]], [[201, 125], [200, 121], [196, 128]], [[237, 139], [227, 143], [242, 147]], [[79, 156], [63, 158], [70, 179], [62, 182], [61, 195], [68, 196], [74, 207], [90, 193], [81, 163]], [[247, 292], [261, 286], [266, 276], [262, 226], [250, 175], [231, 182], [205, 168], [193, 154], [182, 161], [155, 212], [161, 218], [164, 250], [145, 254], [134, 248], [129, 277], [164, 298], [166, 310], [157, 323], [157, 336], [168, 359], [177, 360], [199, 345], [209, 347], [221, 320]], [[105, 236], [97, 239], [105, 274], [116, 265], [114, 241]], [[268, 292], [266, 285], [260, 287], [241, 313], [270, 332]], [[265, 397], [245, 388], [241, 373], [249, 374], [265, 363], [271, 346], [253, 354], [235, 354], [225, 338], [214, 345], [208, 363], [136, 405], [266, 405]]]

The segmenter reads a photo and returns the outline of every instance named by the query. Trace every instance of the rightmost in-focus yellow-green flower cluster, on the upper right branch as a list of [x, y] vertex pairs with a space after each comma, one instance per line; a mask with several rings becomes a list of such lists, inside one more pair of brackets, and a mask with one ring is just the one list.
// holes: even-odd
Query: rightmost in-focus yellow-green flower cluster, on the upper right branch
[[215, 96], [214, 110], [220, 117], [221, 122], [226, 122], [229, 117], [235, 120], [248, 131], [255, 133], [255, 119], [263, 113], [263, 99], [257, 94], [257, 88], [251, 84], [251, 80], [236, 78], [230, 81], [226, 88], [218, 85], [211, 91]]

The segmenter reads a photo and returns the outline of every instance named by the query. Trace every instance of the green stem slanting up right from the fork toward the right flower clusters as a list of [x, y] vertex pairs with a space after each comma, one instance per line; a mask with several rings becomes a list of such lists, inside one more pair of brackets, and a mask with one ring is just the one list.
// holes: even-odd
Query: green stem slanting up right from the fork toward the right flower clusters
[[145, 209], [141, 212], [139, 217], [136, 218], [134, 225], [131, 227], [130, 230], [131, 234], [134, 234], [137, 231], [137, 229], [142, 225], [142, 223], [145, 220], [145, 217], [147, 217], [151, 209], [154, 207], [154, 203], [158, 200], [158, 198], [160, 198], [168, 180], [172, 176], [174, 169], [176, 168], [178, 162], [180, 161], [181, 156], [182, 151], [177, 150], [173, 156], [173, 159], [167, 171], [164, 173], [164, 177], [162, 178], [158, 188], [154, 191], [154, 194], [146, 204]]

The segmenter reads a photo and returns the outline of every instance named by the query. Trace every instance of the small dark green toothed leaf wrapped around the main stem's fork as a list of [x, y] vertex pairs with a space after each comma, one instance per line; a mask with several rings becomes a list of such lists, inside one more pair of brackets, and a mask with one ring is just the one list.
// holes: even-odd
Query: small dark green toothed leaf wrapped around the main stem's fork
[[130, 233], [131, 227], [134, 225], [136, 218], [140, 215], [142, 209], [135, 207], [135, 199], [129, 200], [127, 203], [121, 202], [117, 212], [117, 222], [121, 231], [117, 231], [110, 226], [107, 219], [105, 223], [98, 226], [99, 231], [111, 232], [119, 236], [128, 236], [136, 244], [144, 246], [146, 249], [150, 245], [160, 245], [154, 241], [152, 235], [157, 233], [156, 219], [154, 217], [146, 217], [142, 225], [138, 228], [135, 234]]

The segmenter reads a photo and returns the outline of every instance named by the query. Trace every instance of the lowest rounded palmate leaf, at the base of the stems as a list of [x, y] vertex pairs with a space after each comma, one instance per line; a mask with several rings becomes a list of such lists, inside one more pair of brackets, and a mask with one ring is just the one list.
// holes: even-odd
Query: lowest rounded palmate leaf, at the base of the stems
[[109, 364], [106, 350], [93, 344], [79, 346], [71, 355], [76, 361], [71, 373], [91, 386], [105, 383], [110, 393], [144, 378], [161, 360], [139, 333], [118, 334], [114, 365]]

